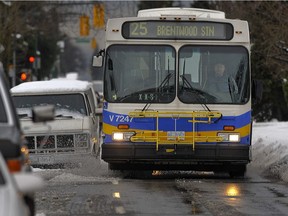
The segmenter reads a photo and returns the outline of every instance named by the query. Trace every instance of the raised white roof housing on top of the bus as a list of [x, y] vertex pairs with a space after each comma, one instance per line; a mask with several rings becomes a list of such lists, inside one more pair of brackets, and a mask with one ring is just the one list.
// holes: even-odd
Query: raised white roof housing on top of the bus
[[225, 19], [225, 13], [217, 10], [200, 8], [154, 8], [139, 10], [138, 17], [160, 17], [160, 16], [193, 16], [201, 18]]

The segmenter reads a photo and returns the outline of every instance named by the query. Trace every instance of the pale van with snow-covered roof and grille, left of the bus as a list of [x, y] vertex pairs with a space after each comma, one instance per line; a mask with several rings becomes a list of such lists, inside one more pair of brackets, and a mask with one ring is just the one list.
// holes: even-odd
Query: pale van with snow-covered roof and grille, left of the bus
[[[99, 117], [92, 84], [55, 79], [22, 83], [11, 89], [33, 166], [77, 165], [100, 150]], [[34, 126], [31, 108], [52, 104], [55, 119], [46, 127]]]

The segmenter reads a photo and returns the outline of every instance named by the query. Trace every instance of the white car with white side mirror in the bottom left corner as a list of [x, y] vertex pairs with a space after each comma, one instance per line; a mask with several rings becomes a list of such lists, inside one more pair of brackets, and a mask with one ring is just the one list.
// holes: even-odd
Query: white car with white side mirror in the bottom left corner
[[0, 152], [0, 216], [30, 216], [25, 195], [35, 193], [44, 187], [39, 176], [30, 173], [11, 174]]

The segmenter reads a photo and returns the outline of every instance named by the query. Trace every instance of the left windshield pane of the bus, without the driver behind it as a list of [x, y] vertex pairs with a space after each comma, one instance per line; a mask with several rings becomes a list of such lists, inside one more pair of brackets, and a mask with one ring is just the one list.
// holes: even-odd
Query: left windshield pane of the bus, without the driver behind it
[[176, 96], [175, 49], [168, 45], [113, 45], [107, 50], [105, 99], [169, 103]]

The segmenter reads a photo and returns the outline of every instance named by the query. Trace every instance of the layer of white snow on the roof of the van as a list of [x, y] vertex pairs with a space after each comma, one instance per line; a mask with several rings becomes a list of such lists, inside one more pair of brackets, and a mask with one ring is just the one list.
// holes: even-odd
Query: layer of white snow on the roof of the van
[[54, 79], [49, 81], [25, 82], [11, 88], [12, 94], [35, 94], [35, 93], [61, 93], [81, 92], [92, 87], [88, 81]]

